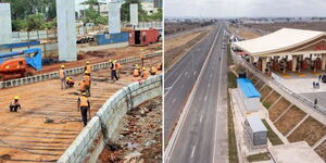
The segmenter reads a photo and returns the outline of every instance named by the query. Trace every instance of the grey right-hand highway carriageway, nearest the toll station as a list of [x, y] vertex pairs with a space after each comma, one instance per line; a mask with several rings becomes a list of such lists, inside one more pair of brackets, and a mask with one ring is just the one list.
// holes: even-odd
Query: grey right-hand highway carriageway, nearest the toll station
[[198, 78], [198, 88], [192, 90], [193, 97], [189, 98], [189, 106], [185, 108], [185, 118], [179, 121], [180, 126], [168, 142], [165, 162], [227, 162], [227, 65], [225, 52], [222, 50], [223, 33], [224, 26], [213, 45], [202, 76]]

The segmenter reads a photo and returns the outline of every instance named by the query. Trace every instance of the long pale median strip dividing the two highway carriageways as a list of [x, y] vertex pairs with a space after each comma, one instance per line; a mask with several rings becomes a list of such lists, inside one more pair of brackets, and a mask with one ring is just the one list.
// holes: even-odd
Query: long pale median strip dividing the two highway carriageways
[[[197, 79], [196, 83], [195, 83], [195, 87], [193, 87], [193, 89], [192, 89], [191, 92], [190, 92], [190, 96], [189, 96], [189, 98], [188, 98], [188, 100], [187, 100], [187, 103], [186, 103], [186, 105], [185, 105], [185, 108], [184, 108], [184, 110], [183, 110], [181, 115], [179, 116], [178, 122], [177, 122], [177, 125], [176, 125], [176, 127], [175, 127], [175, 130], [173, 131], [172, 137], [171, 137], [171, 139], [170, 139], [170, 141], [168, 141], [168, 143], [167, 143], [167, 147], [166, 147], [165, 152], [164, 152], [164, 161], [165, 161], [165, 163], [168, 163], [168, 162], [170, 162], [170, 159], [171, 159], [171, 156], [172, 156], [172, 153], [173, 153], [173, 151], [174, 151], [174, 149], [175, 149], [176, 141], [177, 141], [178, 138], [179, 138], [179, 133], [180, 133], [180, 130], [181, 130], [181, 128], [183, 128], [183, 126], [184, 126], [184, 124], [185, 124], [186, 117], [187, 117], [187, 115], [188, 115], [188, 113], [189, 113], [189, 110], [190, 110], [190, 105], [191, 105], [191, 103], [193, 102], [193, 99], [195, 99], [195, 93], [196, 93], [196, 91], [198, 90], [199, 83], [200, 83], [200, 80], [202, 79], [203, 72], [204, 72], [204, 70], [206, 68], [206, 64], [208, 64], [208, 62], [209, 62], [210, 57], [212, 55], [212, 51], [213, 51], [213, 48], [214, 48], [214, 46], [215, 46], [215, 43], [216, 43], [216, 40], [217, 40], [217, 37], [218, 37], [218, 35], [220, 35], [221, 29], [222, 29], [222, 27], [220, 27], [220, 29], [218, 29], [218, 32], [217, 32], [215, 38], [214, 38], [214, 41], [213, 41], [212, 47], [211, 47], [211, 49], [210, 49], [210, 51], [209, 51], [209, 54], [208, 54], [208, 57], [206, 57], [206, 59], [205, 59], [205, 61], [204, 61], [203, 66], [201, 67], [200, 73], [199, 73], [198, 79]], [[197, 71], [193, 73], [193, 75], [195, 75], [196, 73], [197, 73]]]

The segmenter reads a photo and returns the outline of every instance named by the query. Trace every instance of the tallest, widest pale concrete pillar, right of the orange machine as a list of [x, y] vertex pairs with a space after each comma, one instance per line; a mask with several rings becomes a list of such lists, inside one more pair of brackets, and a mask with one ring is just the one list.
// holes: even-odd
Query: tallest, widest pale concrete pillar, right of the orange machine
[[77, 61], [75, 1], [57, 0], [60, 61]]

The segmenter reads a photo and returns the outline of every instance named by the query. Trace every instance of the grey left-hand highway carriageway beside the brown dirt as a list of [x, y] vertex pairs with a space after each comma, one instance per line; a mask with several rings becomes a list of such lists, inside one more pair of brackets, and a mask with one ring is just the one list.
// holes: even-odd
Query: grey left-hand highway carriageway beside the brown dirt
[[199, 72], [206, 59], [218, 26], [201, 42], [196, 45], [164, 74], [164, 138], [168, 139], [178, 120]]

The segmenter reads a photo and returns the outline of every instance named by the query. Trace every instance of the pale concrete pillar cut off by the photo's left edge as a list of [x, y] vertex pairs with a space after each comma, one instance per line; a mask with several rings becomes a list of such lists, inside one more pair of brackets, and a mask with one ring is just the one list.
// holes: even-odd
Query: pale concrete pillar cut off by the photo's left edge
[[10, 3], [0, 3], [0, 45], [12, 42]]

